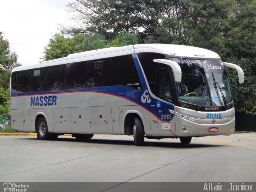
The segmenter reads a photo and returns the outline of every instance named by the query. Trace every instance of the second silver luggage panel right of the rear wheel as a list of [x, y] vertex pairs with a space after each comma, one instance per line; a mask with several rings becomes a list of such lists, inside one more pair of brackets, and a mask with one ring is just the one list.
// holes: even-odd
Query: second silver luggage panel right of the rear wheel
[[70, 108], [72, 133], [91, 134], [90, 108]]

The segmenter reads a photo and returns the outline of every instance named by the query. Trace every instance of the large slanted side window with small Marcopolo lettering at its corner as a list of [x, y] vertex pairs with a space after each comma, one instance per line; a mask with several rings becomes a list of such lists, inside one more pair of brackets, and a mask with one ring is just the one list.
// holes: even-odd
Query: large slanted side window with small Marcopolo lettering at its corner
[[123, 85], [142, 90], [140, 78], [132, 55], [113, 57], [111, 62], [111, 86]]

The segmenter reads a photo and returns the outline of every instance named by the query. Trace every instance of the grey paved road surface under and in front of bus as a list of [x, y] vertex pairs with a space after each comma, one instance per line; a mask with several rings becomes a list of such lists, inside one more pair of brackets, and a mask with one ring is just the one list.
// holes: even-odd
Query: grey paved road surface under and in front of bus
[[0, 137], [0, 182], [255, 182], [256, 134], [148, 140]]

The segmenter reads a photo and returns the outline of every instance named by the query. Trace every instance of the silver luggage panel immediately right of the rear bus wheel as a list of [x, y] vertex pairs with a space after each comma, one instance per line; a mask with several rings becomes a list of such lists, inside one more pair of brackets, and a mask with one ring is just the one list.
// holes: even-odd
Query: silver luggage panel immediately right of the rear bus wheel
[[71, 133], [70, 108], [53, 108], [54, 133]]

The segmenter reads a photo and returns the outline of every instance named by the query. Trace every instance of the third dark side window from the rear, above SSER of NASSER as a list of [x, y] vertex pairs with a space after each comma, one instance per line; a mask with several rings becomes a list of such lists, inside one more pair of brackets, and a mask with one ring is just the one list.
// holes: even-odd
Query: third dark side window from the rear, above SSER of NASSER
[[46, 91], [65, 89], [66, 65], [46, 67]]

